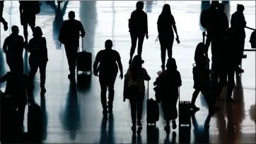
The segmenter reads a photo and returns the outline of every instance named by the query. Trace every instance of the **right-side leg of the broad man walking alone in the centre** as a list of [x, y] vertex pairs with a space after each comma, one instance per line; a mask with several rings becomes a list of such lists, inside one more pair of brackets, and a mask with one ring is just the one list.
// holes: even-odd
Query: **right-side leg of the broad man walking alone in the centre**
[[112, 108], [113, 108], [113, 101], [114, 101], [114, 95], [115, 95], [114, 85], [115, 85], [116, 78], [117, 76], [111, 76], [108, 83], [108, 102], [107, 102], [108, 112], [112, 112]]

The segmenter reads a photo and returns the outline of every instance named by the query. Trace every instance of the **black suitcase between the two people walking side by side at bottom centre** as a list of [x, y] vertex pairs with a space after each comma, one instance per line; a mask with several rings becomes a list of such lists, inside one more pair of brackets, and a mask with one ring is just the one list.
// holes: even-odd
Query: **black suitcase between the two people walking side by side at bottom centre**
[[156, 126], [156, 121], [159, 120], [159, 107], [158, 102], [153, 100], [152, 98], [149, 99], [149, 81], [148, 81], [148, 100], [146, 100], [146, 123], [154, 124]]

